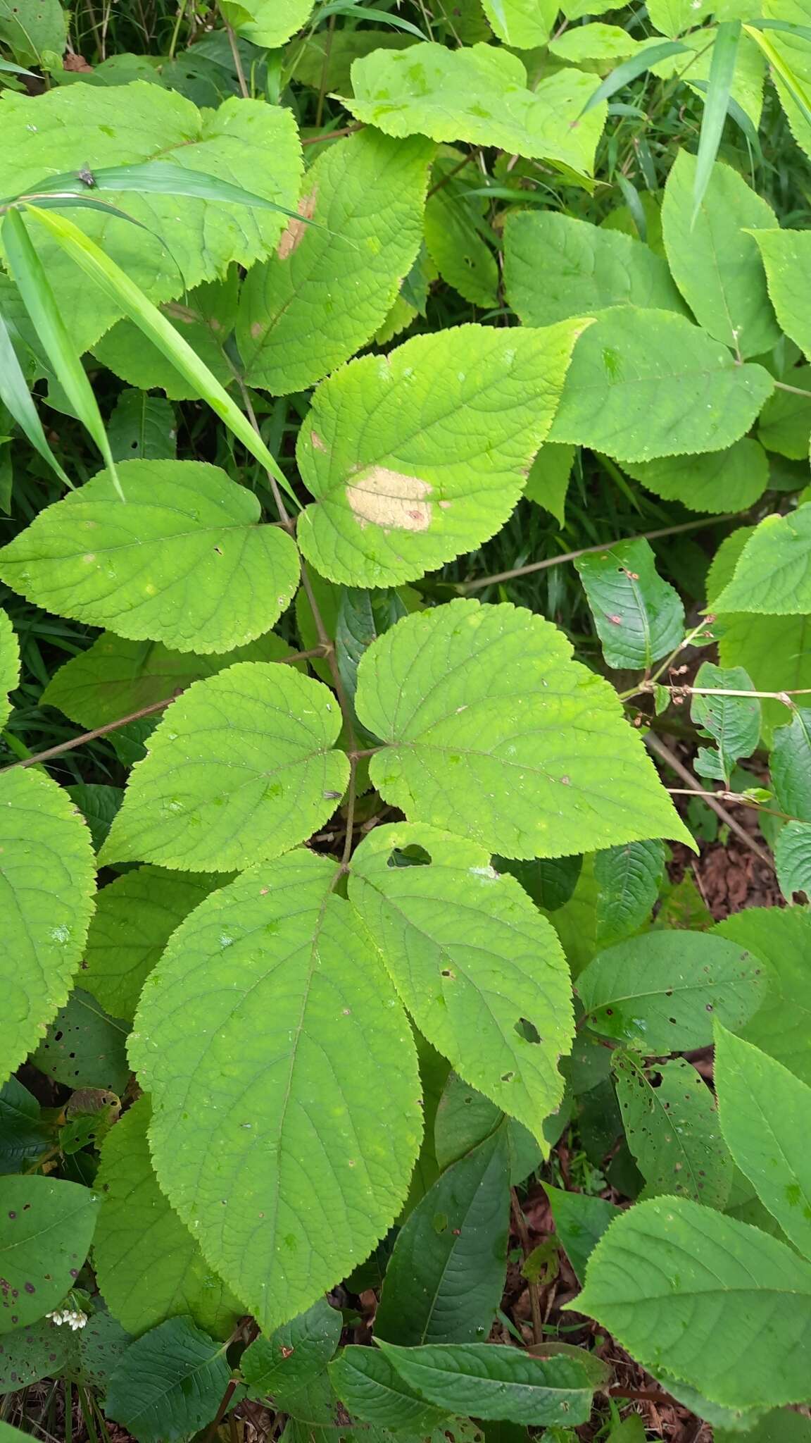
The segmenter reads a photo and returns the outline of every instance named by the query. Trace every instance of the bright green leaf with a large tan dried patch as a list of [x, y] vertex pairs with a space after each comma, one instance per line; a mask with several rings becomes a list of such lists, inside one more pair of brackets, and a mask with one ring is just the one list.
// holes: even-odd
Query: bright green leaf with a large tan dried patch
[[316, 498], [299, 518], [307, 560], [333, 582], [394, 586], [494, 535], [584, 326], [452, 326], [325, 381], [296, 446]]

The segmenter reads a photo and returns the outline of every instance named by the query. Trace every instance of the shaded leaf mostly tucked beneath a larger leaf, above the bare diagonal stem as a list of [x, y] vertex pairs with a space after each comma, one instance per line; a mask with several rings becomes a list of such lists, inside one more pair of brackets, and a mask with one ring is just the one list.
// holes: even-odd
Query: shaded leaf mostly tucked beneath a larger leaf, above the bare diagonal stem
[[748, 511], [769, 483], [769, 459], [749, 436], [733, 442], [729, 450], [625, 462], [625, 470], [664, 501], [681, 501], [688, 511], [710, 515]]

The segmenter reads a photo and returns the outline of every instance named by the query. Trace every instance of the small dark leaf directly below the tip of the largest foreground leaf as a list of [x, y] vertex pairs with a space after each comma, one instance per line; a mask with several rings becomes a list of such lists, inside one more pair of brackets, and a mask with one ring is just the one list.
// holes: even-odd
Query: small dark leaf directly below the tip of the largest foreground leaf
[[277, 1328], [270, 1338], [257, 1338], [240, 1359], [251, 1398], [286, 1398], [323, 1374], [341, 1342], [341, 1313], [319, 1297], [312, 1307]]

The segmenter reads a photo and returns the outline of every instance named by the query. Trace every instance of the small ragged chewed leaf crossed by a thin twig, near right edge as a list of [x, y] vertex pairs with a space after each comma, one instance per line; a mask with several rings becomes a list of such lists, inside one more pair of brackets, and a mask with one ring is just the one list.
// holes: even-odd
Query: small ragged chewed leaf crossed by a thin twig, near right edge
[[752, 756], [760, 739], [760, 701], [758, 697], [749, 701], [742, 696], [700, 691], [701, 687], [707, 687], [709, 693], [753, 691], [752, 678], [743, 667], [716, 667], [713, 661], [703, 661], [696, 672], [694, 687], [690, 720], [700, 736], [711, 737], [717, 746], [717, 750], [698, 747], [696, 771], [700, 776], [716, 778], [729, 786], [736, 762]]

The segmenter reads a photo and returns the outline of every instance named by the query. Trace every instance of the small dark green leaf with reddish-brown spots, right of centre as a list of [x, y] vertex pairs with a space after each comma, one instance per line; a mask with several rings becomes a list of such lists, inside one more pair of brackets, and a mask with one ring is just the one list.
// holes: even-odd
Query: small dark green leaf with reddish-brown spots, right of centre
[[658, 574], [649, 541], [616, 541], [574, 564], [609, 667], [648, 670], [675, 651], [684, 606]]

